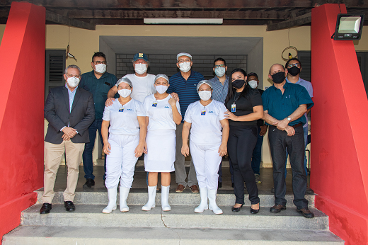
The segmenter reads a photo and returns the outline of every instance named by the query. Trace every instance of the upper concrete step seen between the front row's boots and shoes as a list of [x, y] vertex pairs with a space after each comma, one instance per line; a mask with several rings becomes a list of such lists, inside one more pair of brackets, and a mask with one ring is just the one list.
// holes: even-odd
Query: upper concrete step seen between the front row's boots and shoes
[[[170, 205], [200, 205], [200, 195], [198, 193], [175, 193], [175, 190], [170, 190], [171, 193], [168, 196], [168, 202]], [[38, 190], [38, 203], [42, 203], [42, 190]], [[119, 193], [117, 194], [119, 195]], [[275, 205], [274, 195], [259, 195], [261, 207], [272, 207]], [[287, 207], [295, 207], [292, 203], [294, 196], [286, 195]], [[117, 198], [119, 200], [119, 198]], [[148, 200], [148, 193], [144, 189], [131, 190], [127, 203], [128, 205], [145, 205]], [[314, 195], [306, 195], [306, 200], [309, 201], [309, 207], [314, 207]], [[244, 198], [245, 205], [251, 206], [251, 202], [248, 200], [248, 195]], [[54, 204], [64, 203], [63, 193], [56, 192]], [[107, 189], [99, 191], [89, 192], [76, 192], [74, 198], [75, 204], [86, 204], [86, 205], [107, 205], [108, 203], [108, 192]], [[161, 203], [161, 193], [156, 194], [156, 203]], [[219, 190], [217, 193], [217, 205], [234, 205], [235, 195], [232, 190]]]

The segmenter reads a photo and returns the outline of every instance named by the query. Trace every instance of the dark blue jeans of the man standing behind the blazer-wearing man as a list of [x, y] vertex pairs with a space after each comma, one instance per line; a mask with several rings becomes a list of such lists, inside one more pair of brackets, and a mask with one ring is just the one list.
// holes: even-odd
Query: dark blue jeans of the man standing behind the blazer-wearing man
[[[98, 135], [100, 135], [101, 144], [103, 147], [103, 139], [101, 135], [101, 125], [102, 125], [102, 119], [96, 119], [93, 121], [91, 126], [88, 128], [88, 134], [89, 134], [89, 143], [86, 143], [84, 145], [84, 152], [83, 152], [83, 169], [84, 169], [84, 178], [92, 178], [95, 179], [95, 176], [93, 175], [93, 159], [92, 159], [92, 151], [93, 147], [95, 146], [95, 139], [96, 139], [96, 131], [98, 130]], [[105, 173], [103, 173], [103, 179], [105, 180], [106, 175], [106, 157], [105, 162], [103, 164], [103, 168], [105, 169]]]

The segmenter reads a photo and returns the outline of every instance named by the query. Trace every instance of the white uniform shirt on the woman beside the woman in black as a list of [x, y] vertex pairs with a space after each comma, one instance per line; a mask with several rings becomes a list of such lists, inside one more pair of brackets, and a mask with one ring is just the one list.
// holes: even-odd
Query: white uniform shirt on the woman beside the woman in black
[[200, 101], [191, 103], [184, 117], [185, 122], [192, 124], [190, 140], [195, 144], [221, 144], [222, 126], [220, 120], [225, 119], [224, 113], [226, 111], [225, 105], [215, 100], [212, 100], [207, 106], [202, 106]]

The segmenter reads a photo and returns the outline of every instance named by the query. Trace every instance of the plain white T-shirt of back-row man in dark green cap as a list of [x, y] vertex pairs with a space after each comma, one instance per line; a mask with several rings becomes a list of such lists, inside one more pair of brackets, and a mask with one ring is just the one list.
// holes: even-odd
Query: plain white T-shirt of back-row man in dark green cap
[[147, 74], [146, 76], [136, 76], [135, 74], [127, 74], [124, 77], [127, 77], [132, 81], [133, 91], [130, 96], [135, 100], [143, 103], [146, 96], [156, 93], [156, 89], [154, 87], [155, 75]]

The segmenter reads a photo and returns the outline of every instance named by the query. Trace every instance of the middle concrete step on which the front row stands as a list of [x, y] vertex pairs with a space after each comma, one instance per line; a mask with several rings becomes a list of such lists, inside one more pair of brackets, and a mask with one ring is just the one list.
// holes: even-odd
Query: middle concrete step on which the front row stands
[[68, 227], [170, 227], [212, 229], [328, 229], [328, 217], [314, 208], [314, 219], [302, 217], [296, 208], [289, 207], [280, 213], [270, 213], [261, 207], [257, 215], [251, 215], [250, 207], [240, 212], [231, 212], [231, 206], [220, 206], [223, 215], [214, 215], [210, 210], [201, 214], [194, 206], [172, 206], [171, 211], [161, 211], [161, 206], [146, 212], [142, 205], [130, 205], [129, 212], [117, 210], [103, 214], [105, 205], [76, 205], [75, 212], [67, 212], [64, 205], [53, 204], [50, 214], [40, 215], [41, 205], [33, 205], [21, 214], [21, 224]]

